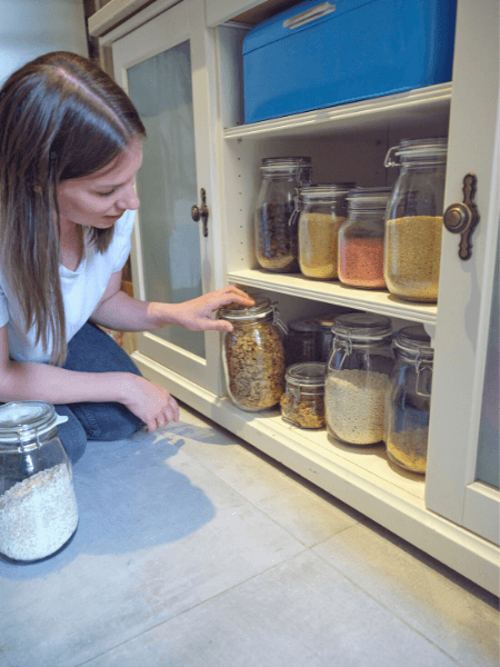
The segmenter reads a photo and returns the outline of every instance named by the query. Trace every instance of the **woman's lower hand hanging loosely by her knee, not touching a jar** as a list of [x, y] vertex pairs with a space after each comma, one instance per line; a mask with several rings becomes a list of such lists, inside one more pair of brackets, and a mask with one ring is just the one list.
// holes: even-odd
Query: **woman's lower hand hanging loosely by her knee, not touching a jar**
[[120, 402], [146, 424], [148, 432], [179, 421], [179, 406], [167, 389], [133, 374], [122, 374]]

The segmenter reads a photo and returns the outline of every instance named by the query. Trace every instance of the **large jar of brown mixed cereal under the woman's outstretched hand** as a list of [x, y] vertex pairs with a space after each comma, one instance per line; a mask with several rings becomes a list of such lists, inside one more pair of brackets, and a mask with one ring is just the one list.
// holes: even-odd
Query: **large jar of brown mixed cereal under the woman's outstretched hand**
[[250, 308], [222, 307], [219, 317], [233, 326], [224, 334], [222, 355], [229, 396], [242, 410], [273, 408], [284, 390], [281, 335], [287, 332], [276, 306], [257, 297]]

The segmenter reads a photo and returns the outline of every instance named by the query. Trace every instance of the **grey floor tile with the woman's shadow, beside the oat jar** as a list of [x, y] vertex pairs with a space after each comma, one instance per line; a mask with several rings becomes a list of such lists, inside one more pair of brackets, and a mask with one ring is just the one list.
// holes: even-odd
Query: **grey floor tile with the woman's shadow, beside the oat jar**
[[164, 438], [91, 444], [80, 525], [33, 565], [0, 561], [0, 665], [73, 667], [304, 549]]

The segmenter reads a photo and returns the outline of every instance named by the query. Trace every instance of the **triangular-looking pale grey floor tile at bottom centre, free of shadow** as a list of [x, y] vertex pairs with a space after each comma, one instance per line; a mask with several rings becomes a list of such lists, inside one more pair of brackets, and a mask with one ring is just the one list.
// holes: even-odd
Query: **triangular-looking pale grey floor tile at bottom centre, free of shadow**
[[296, 556], [86, 667], [454, 667], [313, 552]]

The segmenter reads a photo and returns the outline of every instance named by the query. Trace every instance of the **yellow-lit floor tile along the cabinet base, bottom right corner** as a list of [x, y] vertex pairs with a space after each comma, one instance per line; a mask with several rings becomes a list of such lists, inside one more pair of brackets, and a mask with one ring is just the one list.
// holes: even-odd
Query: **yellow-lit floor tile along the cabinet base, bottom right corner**
[[314, 547], [466, 667], [499, 667], [498, 598], [373, 522]]

